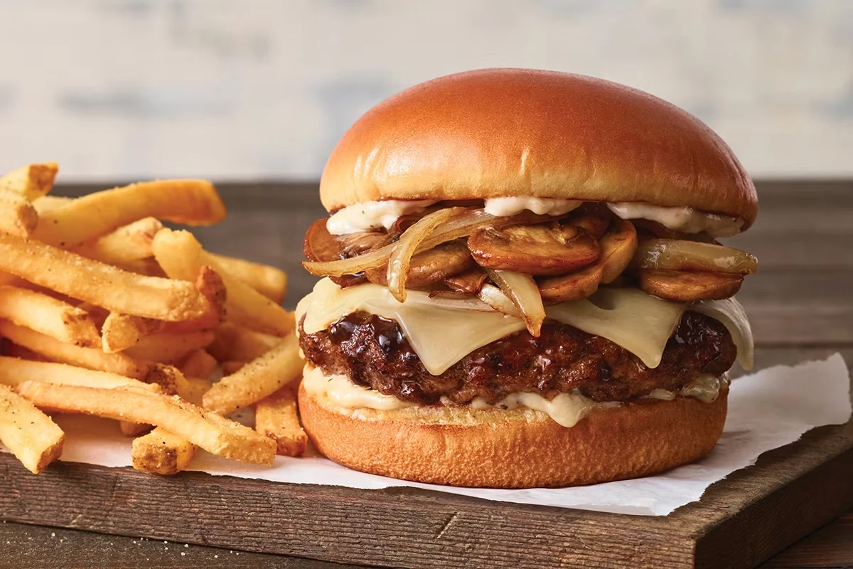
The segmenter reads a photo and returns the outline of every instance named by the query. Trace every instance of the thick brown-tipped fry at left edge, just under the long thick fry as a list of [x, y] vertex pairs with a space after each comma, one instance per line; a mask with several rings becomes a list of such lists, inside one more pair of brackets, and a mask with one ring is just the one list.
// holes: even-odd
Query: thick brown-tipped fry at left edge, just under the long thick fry
[[89, 313], [26, 288], [0, 286], [0, 318], [68, 344], [85, 347], [101, 344]]

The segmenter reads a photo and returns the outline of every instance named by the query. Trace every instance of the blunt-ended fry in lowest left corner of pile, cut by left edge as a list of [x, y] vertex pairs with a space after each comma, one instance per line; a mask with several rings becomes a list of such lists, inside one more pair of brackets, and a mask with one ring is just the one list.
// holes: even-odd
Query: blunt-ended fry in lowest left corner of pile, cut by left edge
[[62, 454], [65, 433], [26, 398], [0, 386], [0, 442], [38, 474]]

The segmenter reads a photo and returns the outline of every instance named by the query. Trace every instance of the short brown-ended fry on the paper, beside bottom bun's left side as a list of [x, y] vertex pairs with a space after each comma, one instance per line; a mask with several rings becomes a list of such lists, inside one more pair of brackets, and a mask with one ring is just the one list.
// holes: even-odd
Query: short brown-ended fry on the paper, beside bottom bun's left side
[[255, 405], [255, 431], [276, 441], [276, 454], [302, 456], [308, 435], [299, 424], [296, 394], [284, 386]]

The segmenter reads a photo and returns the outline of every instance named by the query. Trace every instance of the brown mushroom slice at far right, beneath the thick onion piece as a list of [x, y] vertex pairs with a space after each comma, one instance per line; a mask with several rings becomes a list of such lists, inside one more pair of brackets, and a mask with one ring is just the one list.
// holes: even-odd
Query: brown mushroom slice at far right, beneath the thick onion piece
[[742, 275], [680, 270], [641, 270], [640, 288], [661, 299], [693, 302], [722, 300], [734, 296], [743, 283]]

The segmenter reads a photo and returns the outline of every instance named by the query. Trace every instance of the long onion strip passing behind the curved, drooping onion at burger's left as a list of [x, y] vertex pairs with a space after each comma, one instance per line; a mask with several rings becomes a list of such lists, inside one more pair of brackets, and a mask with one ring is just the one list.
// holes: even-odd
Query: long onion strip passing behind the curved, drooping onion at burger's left
[[[454, 207], [450, 209], [457, 210], [456, 215], [444, 224], [444, 227], [436, 229], [432, 235], [427, 236], [426, 239], [421, 241], [421, 245], [417, 247], [417, 251], [425, 251], [427, 249], [432, 249], [432, 247], [437, 245], [441, 245], [442, 243], [446, 243], [447, 241], [453, 241], [460, 237], [467, 237], [468, 235], [471, 235], [474, 230], [485, 225], [502, 228], [509, 227], [510, 225], [544, 223], [556, 219], [554, 216], [537, 215], [531, 212], [521, 212], [518, 215], [510, 216], [508, 218], [497, 218], [481, 209], [470, 209], [465, 207]], [[359, 255], [358, 257], [346, 258], [339, 261], [303, 261], [302, 266], [304, 266], [305, 270], [310, 272], [311, 275], [315, 276], [355, 275], [363, 272], [364, 270], [386, 266], [388, 259], [391, 258], [391, 253], [395, 245], [396, 244], [392, 243], [385, 247], [380, 247], [379, 249], [370, 251], [369, 253]], [[417, 251], [415, 251], [415, 253], [417, 253]]]

